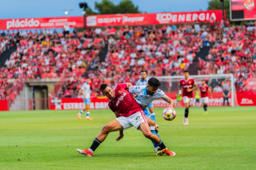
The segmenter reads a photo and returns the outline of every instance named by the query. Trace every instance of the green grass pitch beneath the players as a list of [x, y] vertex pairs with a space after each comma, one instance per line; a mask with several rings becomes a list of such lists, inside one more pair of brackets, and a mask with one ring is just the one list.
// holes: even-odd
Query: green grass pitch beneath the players
[[0, 169], [256, 169], [256, 107], [184, 108], [165, 121], [154, 108], [161, 140], [176, 156], [155, 156], [151, 141], [134, 127], [111, 132], [93, 157], [89, 148], [101, 127], [114, 119], [111, 110], [91, 110], [93, 121], [72, 111], [0, 112]]

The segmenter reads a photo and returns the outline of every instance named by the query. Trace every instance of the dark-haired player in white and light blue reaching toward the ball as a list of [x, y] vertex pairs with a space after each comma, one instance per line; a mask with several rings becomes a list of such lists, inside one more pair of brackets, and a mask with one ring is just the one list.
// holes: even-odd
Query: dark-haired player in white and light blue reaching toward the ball
[[[151, 114], [148, 112], [148, 105], [150, 105], [153, 100], [157, 99], [163, 99], [164, 101], [168, 102], [168, 107], [173, 108], [174, 107], [174, 101], [169, 98], [166, 94], [164, 94], [163, 91], [158, 89], [158, 87], [161, 86], [161, 83], [156, 78], [150, 78], [148, 80], [147, 86], [130, 86], [129, 92], [134, 94], [134, 99], [137, 103], [139, 103], [140, 107], [142, 108], [143, 112], [145, 113], [145, 117], [148, 120], [148, 125], [150, 126], [150, 131], [153, 134], [156, 134], [158, 136], [158, 133], [156, 133], [156, 124], [155, 119], [152, 118]], [[158, 136], [159, 137], [159, 136]], [[153, 142], [152, 142], [153, 143]], [[155, 147], [155, 151], [158, 150], [158, 145], [153, 144]], [[174, 153], [169, 153], [169, 155], [172, 155]], [[174, 156], [174, 155], [173, 155]]]

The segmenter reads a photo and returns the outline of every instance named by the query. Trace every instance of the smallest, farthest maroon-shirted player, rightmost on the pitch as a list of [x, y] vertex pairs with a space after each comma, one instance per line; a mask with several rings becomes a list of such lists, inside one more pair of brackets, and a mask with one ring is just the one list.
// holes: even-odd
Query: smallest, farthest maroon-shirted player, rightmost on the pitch
[[205, 80], [202, 80], [202, 85], [198, 87], [200, 89], [201, 93], [201, 99], [203, 102], [203, 109], [205, 110], [205, 113], [203, 115], [207, 115], [207, 103], [208, 103], [208, 92], [210, 94], [210, 98], [213, 99], [213, 96], [211, 95], [211, 90], [208, 88], [207, 84], [205, 83]]

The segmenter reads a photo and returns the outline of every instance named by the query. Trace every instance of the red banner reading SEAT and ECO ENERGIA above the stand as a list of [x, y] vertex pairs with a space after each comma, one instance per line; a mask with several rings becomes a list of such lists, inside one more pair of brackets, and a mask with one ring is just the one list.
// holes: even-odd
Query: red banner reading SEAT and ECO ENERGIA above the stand
[[86, 17], [87, 26], [113, 26], [113, 25], [151, 25], [189, 23], [198, 20], [208, 22], [210, 18], [220, 21], [222, 10], [205, 10], [195, 12], [164, 12], [153, 14], [109, 14], [89, 15]]

